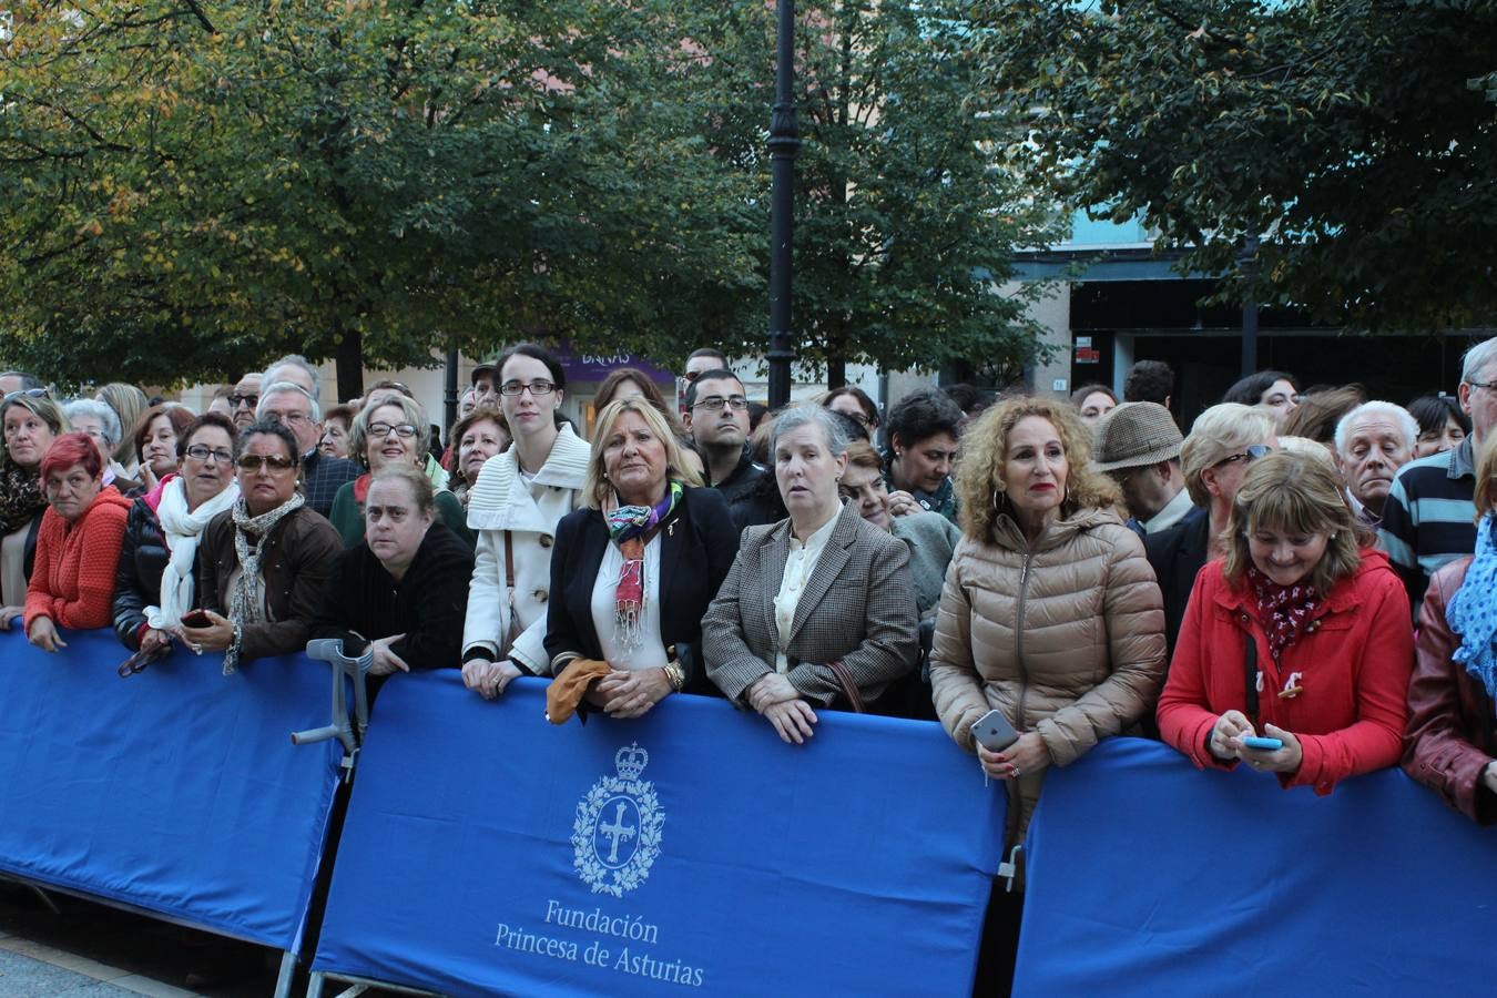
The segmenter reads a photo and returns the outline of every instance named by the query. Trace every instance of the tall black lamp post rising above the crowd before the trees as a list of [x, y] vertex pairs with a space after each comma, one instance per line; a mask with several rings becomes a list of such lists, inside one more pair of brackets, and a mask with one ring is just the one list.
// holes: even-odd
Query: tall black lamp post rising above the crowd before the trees
[[795, 241], [795, 0], [778, 0], [778, 57], [769, 121], [769, 408], [790, 401], [790, 250]]

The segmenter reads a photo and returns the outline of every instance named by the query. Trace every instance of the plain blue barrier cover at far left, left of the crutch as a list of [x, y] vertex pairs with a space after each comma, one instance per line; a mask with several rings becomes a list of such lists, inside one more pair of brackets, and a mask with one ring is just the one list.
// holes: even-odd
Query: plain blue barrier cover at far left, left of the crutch
[[326, 666], [222, 675], [178, 648], [121, 679], [112, 631], [0, 633], [0, 871], [295, 952], [337, 787]]

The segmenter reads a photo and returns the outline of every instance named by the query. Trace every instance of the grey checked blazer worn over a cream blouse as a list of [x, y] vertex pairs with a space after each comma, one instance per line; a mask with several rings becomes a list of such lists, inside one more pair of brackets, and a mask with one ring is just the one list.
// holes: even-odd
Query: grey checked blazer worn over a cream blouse
[[[702, 619], [707, 675], [729, 700], [774, 672], [780, 640], [774, 597], [790, 554], [790, 521], [748, 527], [723, 588]], [[844, 506], [795, 609], [786, 678], [819, 706], [846, 705], [826, 666], [841, 658], [864, 702], [915, 667], [919, 654], [910, 552]]]

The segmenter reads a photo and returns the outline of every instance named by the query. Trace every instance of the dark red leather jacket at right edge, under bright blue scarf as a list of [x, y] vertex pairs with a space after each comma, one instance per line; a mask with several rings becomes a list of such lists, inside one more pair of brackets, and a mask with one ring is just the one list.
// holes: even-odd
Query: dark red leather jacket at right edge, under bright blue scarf
[[1445, 622], [1445, 607], [1470, 564], [1461, 558], [1436, 572], [1419, 607], [1404, 772], [1476, 821], [1497, 824], [1497, 795], [1482, 784], [1482, 771], [1497, 756], [1497, 711], [1487, 688], [1451, 661], [1461, 639]]

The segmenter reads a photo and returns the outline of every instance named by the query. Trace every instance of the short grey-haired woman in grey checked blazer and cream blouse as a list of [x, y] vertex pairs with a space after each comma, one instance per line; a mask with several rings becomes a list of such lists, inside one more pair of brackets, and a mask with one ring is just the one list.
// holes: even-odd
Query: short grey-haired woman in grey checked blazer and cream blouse
[[789, 519], [744, 530], [702, 621], [707, 675], [780, 738], [801, 744], [813, 706], [861, 709], [915, 667], [909, 548], [843, 506], [847, 438], [819, 405], [780, 414], [769, 437]]

